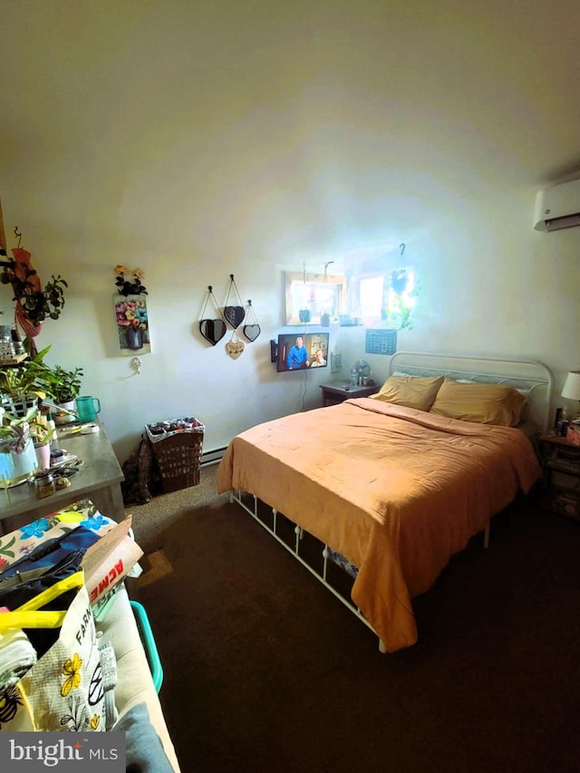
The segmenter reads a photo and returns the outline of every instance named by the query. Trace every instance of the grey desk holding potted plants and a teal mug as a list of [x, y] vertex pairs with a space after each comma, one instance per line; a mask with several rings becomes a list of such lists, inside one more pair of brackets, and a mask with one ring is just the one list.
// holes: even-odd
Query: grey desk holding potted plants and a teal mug
[[[103, 516], [116, 521], [125, 517], [121, 493], [124, 476], [102, 424], [99, 427], [99, 432], [90, 435], [58, 430], [59, 446], [84, 460], [82, 467], [71, 478], [68, 488], [57, 490], [45, 499], [38, 499], [34, 486], [29, 483], [21, 483], [7, 491], [0, 488], [0, 534], [13, 531], [19, 525], [30, 523], [85, 498], [91, 499]], [[6, 527], [3, 523], [5, 519]]]

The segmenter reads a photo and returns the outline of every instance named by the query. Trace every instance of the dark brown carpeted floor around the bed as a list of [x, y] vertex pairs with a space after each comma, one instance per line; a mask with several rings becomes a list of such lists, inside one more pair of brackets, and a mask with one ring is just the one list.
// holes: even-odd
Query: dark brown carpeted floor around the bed
[[[518, 502], [372, 633], [250, 517], [199, 487], [128, 507], [183, 773], [580, 769], [580, 528]], [[165, 563], [167, 562], [167, 563]], [[169, 570], [168, 570], [169, 565]]]

